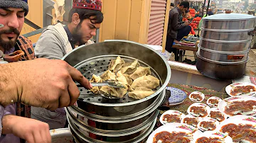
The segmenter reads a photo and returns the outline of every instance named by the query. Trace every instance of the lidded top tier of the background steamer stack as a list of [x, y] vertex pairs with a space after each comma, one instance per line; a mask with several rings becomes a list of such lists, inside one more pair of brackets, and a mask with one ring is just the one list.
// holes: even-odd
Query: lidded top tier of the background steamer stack
[[241, 13], [220, 13], [207, 16], [203, 18], [202, 23], [202, 28], [215, 30], [248, 30], [254, 26], [255, 16]]

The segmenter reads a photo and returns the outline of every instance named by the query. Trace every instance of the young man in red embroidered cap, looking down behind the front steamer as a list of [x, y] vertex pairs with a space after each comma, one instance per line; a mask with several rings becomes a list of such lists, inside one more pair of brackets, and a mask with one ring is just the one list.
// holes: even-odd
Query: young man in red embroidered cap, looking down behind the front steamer
[[[96, 35], [96, 30], [100, 28], [100, 23], [103, 21], [101, 8], [100, 0], [73, 1], [68, 25], [58, 23], [48, 26], [36, 43], [36, 57], [61, 59], [76, 45], [94, 43], [90, 39]], [[47, 122], [50, 129], [65, 127], [67, 122], [64, 108], [53, 112], [44, 108], [32, 107], [31, 118]]]

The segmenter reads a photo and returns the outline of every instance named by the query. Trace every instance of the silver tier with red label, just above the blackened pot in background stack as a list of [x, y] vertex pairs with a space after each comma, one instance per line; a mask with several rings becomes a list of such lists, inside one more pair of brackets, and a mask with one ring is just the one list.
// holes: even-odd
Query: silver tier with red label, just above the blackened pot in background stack
[[220, 64], [238, 64], [248, 60], [249, 50], [245, 52], [222, 52], [215, 50], [208, 50], [198, 45], [198, 55], [211, 62], [218, 62]]

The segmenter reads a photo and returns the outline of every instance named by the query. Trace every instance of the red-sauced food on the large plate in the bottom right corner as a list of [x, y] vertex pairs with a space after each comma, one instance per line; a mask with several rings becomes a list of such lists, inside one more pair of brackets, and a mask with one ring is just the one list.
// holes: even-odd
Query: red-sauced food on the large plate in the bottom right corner
[[249, 143], [256, 142], [256, 129], [252, 125], [230, 123], [221, 127], [220, 132], [227, 132], [233, 140], [242, 139]]

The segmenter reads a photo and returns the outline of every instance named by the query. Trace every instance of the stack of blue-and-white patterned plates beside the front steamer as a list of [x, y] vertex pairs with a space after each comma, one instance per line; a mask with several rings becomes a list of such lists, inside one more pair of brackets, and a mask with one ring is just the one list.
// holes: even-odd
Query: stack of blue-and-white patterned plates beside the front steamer
[[171, 94], [169, 98], [169, 106], [181, 104], [187, 97], [186, 93], [184, 91], [181, 91], [181, 89], [174, 88], [174, 87], [166, 87], [166, 90], [167, 90], [166, 93]]

